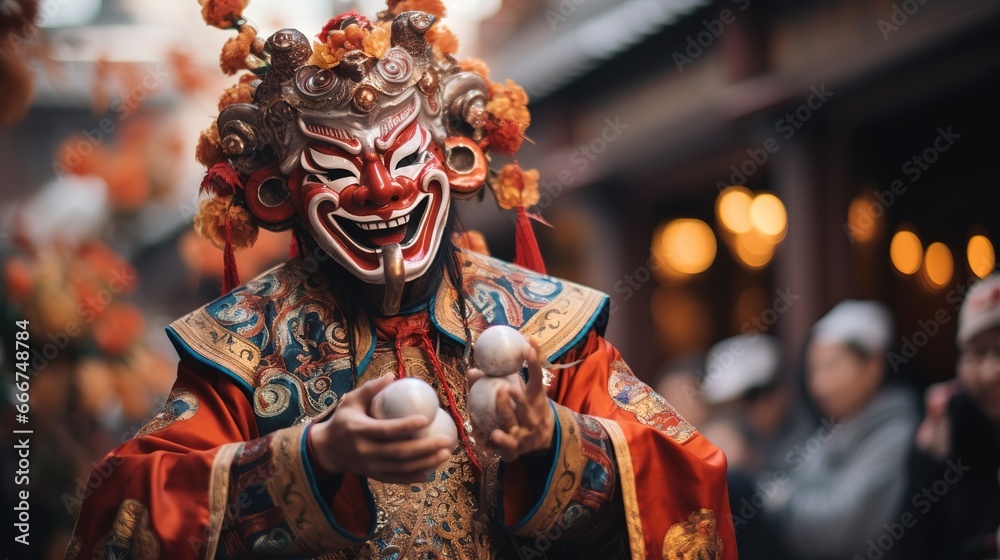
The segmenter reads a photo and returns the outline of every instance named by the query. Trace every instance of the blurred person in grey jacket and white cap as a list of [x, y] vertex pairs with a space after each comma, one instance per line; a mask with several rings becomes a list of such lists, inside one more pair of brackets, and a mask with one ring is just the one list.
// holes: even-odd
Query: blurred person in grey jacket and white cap
[[912, 391], [886, 382], [892, 337], [873, 301], [841, 302], [813, 327], [806, 389], [823, 418], [767, 501], [792, 558], [866, 557], [898, 519], [918, 412]]

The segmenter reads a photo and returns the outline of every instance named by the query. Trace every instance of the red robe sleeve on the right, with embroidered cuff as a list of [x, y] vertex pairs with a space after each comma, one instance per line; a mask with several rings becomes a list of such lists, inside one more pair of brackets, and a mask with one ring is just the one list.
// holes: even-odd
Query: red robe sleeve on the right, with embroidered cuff
[[[596, 332], [559, 361], [579, 365], [554, 372], [549, 388], [558, 426], [544, 487], [526, 491], [532, 485], [517, 480], [517, 469], [503, 481], [514, 534], [534, 539], [536, 550], [540, 535], [586, 543], [622, 535], [623, 557], [735, 559], [722, 452]], [[597, 557], [587, 548], [574, 556]]]

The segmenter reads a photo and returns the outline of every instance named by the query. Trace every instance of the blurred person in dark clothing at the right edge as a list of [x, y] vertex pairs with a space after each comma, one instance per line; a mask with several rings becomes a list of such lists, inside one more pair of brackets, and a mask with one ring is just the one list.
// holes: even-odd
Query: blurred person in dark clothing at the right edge
[[927, 390], [917, 430], [901, 517], [911, 558], [1000, 557], [1000, 275], [969, 291], [957, 338], [958, 377]]

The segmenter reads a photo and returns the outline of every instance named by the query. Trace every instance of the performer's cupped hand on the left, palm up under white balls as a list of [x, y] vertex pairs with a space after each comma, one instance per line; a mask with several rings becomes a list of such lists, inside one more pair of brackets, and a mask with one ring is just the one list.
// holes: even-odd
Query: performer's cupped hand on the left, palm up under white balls
[[453, 441], [436, 434], [414, 438], [430, 422], [420, 415], [379, 420], [368, 415], [372, 398], [393, 375], [372, 379], [344, 395], [333, 415], [309, 431], [316, 466], [328, 474], [354, 472], [393, 484], [426, 482], [451, 456]]

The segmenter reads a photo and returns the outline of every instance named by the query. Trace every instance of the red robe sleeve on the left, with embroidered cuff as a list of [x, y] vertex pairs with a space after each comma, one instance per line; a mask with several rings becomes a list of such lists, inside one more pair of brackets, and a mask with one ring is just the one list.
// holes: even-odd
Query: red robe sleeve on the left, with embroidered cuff
[[259, 437], [238, 387], [182, 363], [163, 412], [96, 465], [66, 557], [303, 557], [364, 542], [367, 481], [317, 476], [310, 426]]

